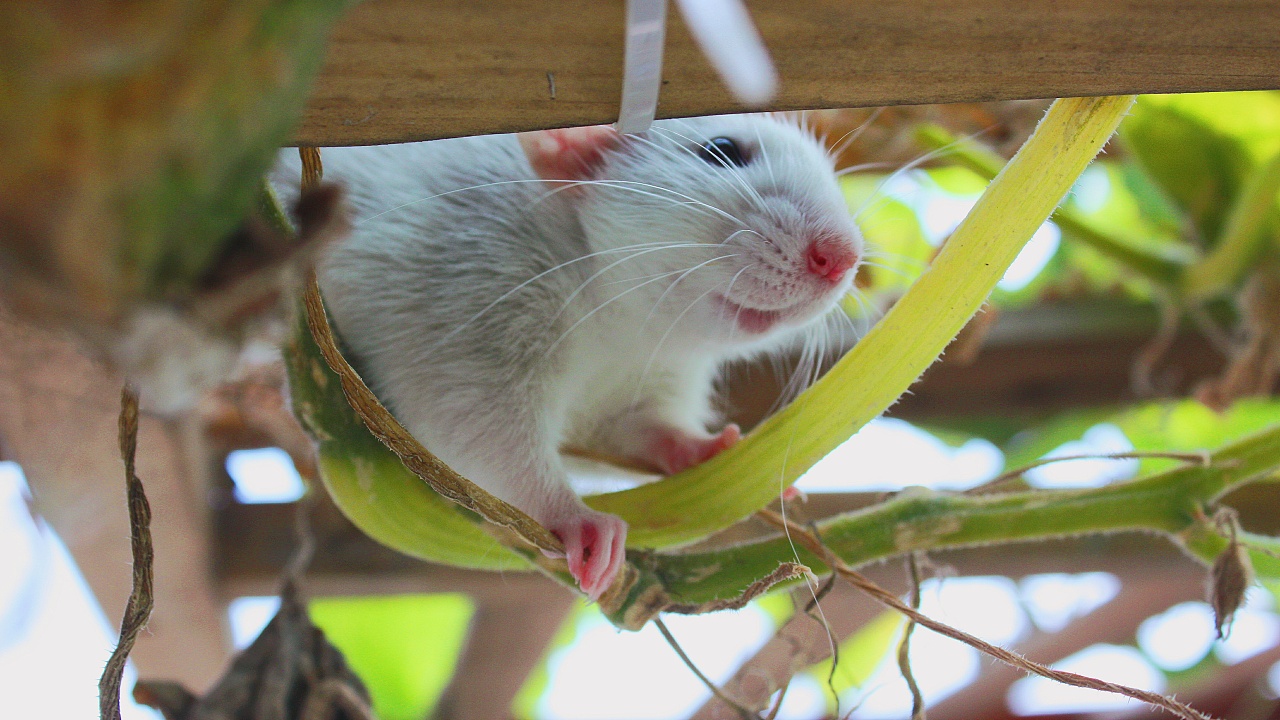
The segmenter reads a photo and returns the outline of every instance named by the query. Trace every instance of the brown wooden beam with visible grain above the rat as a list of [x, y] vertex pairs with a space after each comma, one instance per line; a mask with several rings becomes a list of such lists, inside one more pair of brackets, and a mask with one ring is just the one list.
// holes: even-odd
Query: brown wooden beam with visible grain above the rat
[[[780, 110], [1280, 88], [1274, 0], [748, 5], [778, 65]], [[296, 142], [613, 122], [622, 19], [623, 0], [366, 0], [334, 33]], [[673, 13], [659, 117], [736, 110]]]

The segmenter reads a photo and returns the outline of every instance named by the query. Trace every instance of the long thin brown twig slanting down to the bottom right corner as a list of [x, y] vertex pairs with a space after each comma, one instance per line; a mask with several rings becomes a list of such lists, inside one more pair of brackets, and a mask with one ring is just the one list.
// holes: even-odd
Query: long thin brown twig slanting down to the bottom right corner
[[787, 532], [792, 538], [804, 544], [805, 548], [808, 548], [810, 552], [820, 557], [823, 562], [826, 562], [827, 566], [831, 568], [835, 573], [838, 573], [844, 579], [846, 579], [858, 589], [869, 594], [881, 605], [884, 605], [887, 607], [891, 607], [901, 612], [910, 620], [914, 620], [915, 623], [933, 630], [934, 633], [938, 633], [940, 635], [960, 641], [966, 646], [984, 655], [988, 655], [1006, 665], [1023, 670], [1024, 673], [1039, 675], [1042, 678], [1047, 678], [1050, 680], [1062, 683], [1065, 685], [1089, 688], [1089, 689], [1103, 691], [1130, 697], [1133, 700], [1138, 700], [1148, 705], [1153, 705], [1156, 707], [1167, 710], [1169, 712], [1178, 715], [1179, 717], [1183, 717], [1185, 720], [1211, 720], [1208, 715], [1204, 715], [1203, 712], [1199, 712], [1198, 710], [1185, 703], [1178, 702], [1176, 700], [1165, 697], [1162, 694], [1138, 688], [1132, 688], [1129, 685], [1121, 685], [1117, 683], [1108, 683], [1106, 680], [1098, 680], [1097, 678], [1089, 678], [1087, 675], [1079, 675], [1076, 673], [1053, 670], [1038, 662], [1027, 660], [1025, 657], [1015, 652], [1011, 652], [998, 646], [993, 646], [980, 638], [965, 633], [964, 630], [959, 630], [956, 628], [952, 628], [951, 625], [940, 623], [927, 615], [920, 614], [918, 610], [913, 610], [910, 606], [899, 600], [893, 593], [877, 585], [869, 578], [850, 568], [847, 564], [845, 564], [844, 560], [840, 559], [838, 555], [832, 552], [831, 548], [823, 544], [822, 541], [814, 537], [805, 528], [769, 510], [760, 510], [756, 512], [756, 516], [774, 525], [776, 528]]

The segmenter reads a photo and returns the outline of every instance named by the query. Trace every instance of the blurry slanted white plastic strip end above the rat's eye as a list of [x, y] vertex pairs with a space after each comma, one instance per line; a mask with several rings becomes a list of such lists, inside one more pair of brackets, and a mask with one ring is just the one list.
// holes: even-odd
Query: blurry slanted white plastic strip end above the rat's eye
[[[778, 73], [742, 0], [676, 0], [689, 32], [741, 102], [773, 100]], [[628, 36], [630, 40], [630, 36]], [[628, 45], [630, 58], [630, 45]]]

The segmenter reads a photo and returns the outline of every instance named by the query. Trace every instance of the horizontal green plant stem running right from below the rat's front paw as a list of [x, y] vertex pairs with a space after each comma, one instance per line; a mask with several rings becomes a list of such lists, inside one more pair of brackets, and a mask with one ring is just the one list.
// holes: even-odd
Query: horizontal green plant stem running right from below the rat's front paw
[[[1280, 425], [1233, 443], [1210, 466], [1181, 466], [1137, 480], [1088, 489], [1029, 491], [965, 496], [906, 492], [896, 498], [818, 524], [823, 542], [859, 566], [918, 550], [1050, 539], [1116, 532], [1160, 532], [1187, 542], [1211, 561], [1221, 547], [1204, 524], [1207, 506], [1242, 484], [1280, 471]], [[1194, 541], [1194, 542], [1193, 542]], [[1216, 542], [1217, 541], [1217, 542]], [[1253, 548], [1277, 550], [1280, 541], [1243, 538]], [[653, 571], [678, 602], [732, 594], [780, 561], [795, 560], [823, 571], [824, 564], [786, 537], [737, 547], [652, 559]], [[1262, 552], [1258, 571], [1280, 577], [1280, 560]]]

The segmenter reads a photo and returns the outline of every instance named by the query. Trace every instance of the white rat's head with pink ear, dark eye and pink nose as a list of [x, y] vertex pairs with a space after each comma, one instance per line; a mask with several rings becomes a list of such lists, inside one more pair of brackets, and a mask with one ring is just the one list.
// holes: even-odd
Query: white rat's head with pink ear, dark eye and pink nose
[[662, 301], [723, 340], [809, 323], [849, 291], [861, 259], [831, 159], [786, 120], [660, 120], [636, 136], [598, 127], [522, 142], [543, 178], [582, 183], [570, 192], [596, 250], [644, 251], [635, 275], [669, 273]]

